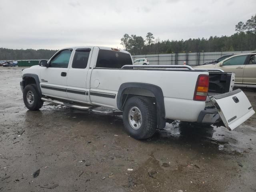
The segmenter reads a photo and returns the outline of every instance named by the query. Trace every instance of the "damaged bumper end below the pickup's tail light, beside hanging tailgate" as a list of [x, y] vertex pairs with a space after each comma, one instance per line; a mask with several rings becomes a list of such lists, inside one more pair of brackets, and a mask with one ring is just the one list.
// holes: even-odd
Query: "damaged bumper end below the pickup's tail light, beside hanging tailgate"
[[216, 123], [220, 121], [220, 115], [216, 109], [202, 110], [198, 116], [198, 123]]

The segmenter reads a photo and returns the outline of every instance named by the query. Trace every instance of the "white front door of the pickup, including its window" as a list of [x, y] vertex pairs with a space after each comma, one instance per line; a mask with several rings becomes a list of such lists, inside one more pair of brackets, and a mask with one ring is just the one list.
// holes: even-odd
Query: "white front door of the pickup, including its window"
[[50, 66], [42, 68], [40, 86], [43, 95], [68, 98], [66, 92], [67, 73], [71, 54], [72, 49], [60, 50], [48, 61]]

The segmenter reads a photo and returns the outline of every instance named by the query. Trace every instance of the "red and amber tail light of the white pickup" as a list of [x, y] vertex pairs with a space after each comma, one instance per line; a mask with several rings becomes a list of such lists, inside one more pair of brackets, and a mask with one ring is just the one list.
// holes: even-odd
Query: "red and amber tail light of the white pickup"
[[205, 101], [209, 88], [209, 76], [208, 75], [199, 75], [196, 88], [194, 93], [195, 101]]

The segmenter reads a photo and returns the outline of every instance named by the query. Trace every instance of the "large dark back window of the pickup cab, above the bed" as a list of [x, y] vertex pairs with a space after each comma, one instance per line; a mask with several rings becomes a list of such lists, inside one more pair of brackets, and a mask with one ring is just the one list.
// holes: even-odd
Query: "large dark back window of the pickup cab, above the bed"
[[132, 65], [130, 54], [104, 49], [99, 50], [96, 67], [122, 68], [124, 65]]

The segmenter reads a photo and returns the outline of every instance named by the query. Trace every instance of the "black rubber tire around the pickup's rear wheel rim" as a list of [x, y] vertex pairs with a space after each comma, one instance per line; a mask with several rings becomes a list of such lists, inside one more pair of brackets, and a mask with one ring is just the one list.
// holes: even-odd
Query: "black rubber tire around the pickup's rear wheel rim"
[[[138, 129], [134, 129], [130, 124], [129, 112], [132, 108], [138, 108], [141, 112], [142, 121]], [[136, 139], [146, 139], [154, 135], [157, 128], [156, 105], [148, 97], [133, 96], [124, 105], [123, 122], [126, 131]]]

